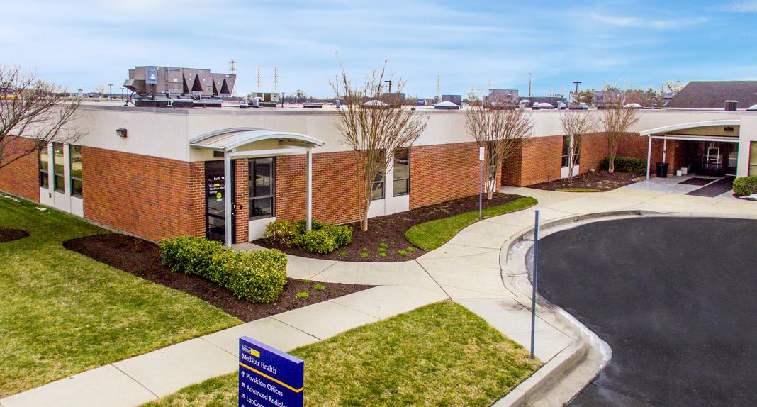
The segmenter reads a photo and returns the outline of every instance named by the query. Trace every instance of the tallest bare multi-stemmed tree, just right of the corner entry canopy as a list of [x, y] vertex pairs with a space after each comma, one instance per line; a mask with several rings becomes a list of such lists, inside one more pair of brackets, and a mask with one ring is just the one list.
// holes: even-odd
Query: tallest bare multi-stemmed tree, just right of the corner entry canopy
[[[338, 109], [337, 127], [344, 143], [353, 149], [357, 175], [362, 183], [358, 199], [362, 203], [363, 230], [368, 230], [374, 180], [391, 169], [394, 150], [411, 146], [426, 127], [427, 117], [401, 106], [399, 98], [405, 81], [388, 78], [385, 70], [386, 61], [380, 70], [373, 70], [364, 83], [353, 86], [342, 67], [341, 75], [332, 82], [337, 99], [343, 102]], [[385, 78], [391, 79], [396, 92], [386, 92]]]

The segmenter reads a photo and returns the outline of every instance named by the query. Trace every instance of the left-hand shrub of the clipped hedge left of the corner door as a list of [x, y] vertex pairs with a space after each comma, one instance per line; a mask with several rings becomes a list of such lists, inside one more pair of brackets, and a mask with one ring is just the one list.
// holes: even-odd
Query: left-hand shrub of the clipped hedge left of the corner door
[[171, 271], [207, 278], [213, 255], [225, 251], [223, 244], [201, 237], [179, 236], [158, 243], [160, 263]]

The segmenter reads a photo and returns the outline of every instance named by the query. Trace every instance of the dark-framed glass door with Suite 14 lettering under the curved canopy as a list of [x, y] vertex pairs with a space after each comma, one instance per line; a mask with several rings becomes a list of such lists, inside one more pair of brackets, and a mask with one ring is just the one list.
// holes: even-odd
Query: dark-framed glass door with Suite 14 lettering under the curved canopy
[[226, 241], [227, 194], [223, 183], [223, 161], [205, 161], [205, 237], [220, 242]]

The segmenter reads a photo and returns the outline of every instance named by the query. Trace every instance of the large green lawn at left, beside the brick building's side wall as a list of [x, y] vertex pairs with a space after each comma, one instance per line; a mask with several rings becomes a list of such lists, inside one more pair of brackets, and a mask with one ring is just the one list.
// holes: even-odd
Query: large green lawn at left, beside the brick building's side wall
[[0, 397], [139, 355], [238, 319], [194, 296], [64, 249], [104, 230], [0, 196]]

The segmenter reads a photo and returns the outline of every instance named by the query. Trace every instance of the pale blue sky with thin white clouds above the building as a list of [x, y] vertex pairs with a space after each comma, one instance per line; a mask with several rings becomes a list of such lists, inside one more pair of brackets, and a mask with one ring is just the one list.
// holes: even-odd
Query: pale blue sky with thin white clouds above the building
[[757, 0], [608, 2], [36, 1], [2, 0], [2, 64], [89, 91], [129, 67], [226, 72], [238, 93], [303, 89], [332, 95], [344, 64], [354, 79], [388, 59], [410, 95], [472, 87], [535, 95], [604, 83], [757, 80]]

